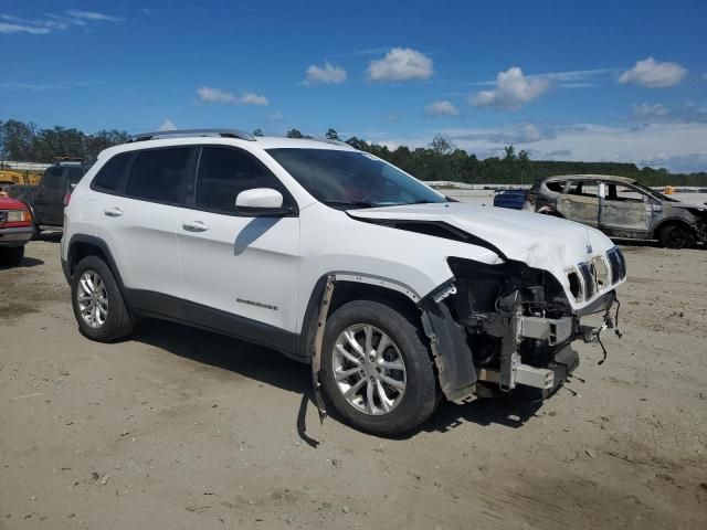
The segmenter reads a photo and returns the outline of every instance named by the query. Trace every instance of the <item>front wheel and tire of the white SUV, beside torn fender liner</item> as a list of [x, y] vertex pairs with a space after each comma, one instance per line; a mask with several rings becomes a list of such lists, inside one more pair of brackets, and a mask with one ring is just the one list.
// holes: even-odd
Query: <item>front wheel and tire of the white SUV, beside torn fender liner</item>
[[327, 321], [321, 363], [325, 396], [361, 431], [407, 433], [439, 403], [433, 362], [418, 328], [383, 304], [356, 300], [337, 309]]

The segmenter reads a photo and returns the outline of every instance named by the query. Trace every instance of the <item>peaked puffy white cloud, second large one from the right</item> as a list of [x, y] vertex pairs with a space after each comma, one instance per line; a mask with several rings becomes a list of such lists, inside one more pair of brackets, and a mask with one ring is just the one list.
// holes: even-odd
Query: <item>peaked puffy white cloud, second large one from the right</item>
[[524, 75], [517, 66], [499, 72], [496, 77], [496, 89], [482, 91], [469, 98], [476, 107], [497, 107], [517, 110], [527, 103], [540, 97], [550, 87], [544, 78]]

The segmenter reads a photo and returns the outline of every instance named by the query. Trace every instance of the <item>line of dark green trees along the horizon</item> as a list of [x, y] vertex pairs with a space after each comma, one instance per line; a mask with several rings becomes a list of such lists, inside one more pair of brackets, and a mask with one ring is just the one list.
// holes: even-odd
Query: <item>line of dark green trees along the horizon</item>
[[[253, 131], [263, 136], [261, 129]], [[312, 138], [298, 129], [287, 131], [288, 138]], [[0, 121], [0, 161], [51, 162], [57, 157], [77, 157], [93, 160], [98, 152], [123, 144], [129, 135], [122, 130], [99, 130], [87, 135], [75, 128], [38, 128], [14, 119]], [[342, 141], [334, 129], [325, 138]], [[707, 172], [671, 173], [666, 169], [639, 168], [635, 163], [531, 160], [528, 152], [516, 152], [506, 146], [500, 157], [478, 159], [454, 146], [444, 135], [435, 136], [429, 146], [410, 149], [368, 142], [356, 136], [346, 144], [387, 160], [420, 180], [449, 180], [464, 183], [531, 183], [552, 174], [597, 173], [631, 177], [646, 186], [707, 186]]]

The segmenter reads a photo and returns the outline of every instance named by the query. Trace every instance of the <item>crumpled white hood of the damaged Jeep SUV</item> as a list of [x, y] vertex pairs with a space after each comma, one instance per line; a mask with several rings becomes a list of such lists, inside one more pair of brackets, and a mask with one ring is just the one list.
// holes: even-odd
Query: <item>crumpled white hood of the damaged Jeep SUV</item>
[[445, 223], [487, 243], [499, 257], [566, 277], [568, 267], [604, 255], [614, 244], [598, 230], [532, 212], [463, 202], [349, 210], [355, 219]]

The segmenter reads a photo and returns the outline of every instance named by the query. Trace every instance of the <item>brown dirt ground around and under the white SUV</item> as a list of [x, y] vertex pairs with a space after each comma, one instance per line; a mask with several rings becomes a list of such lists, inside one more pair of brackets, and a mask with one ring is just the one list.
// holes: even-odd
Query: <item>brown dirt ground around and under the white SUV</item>
[[550, 400], [445, 403], [403, 439], [308, 369], [165, 322], [77, 331], [59, 237], [0, 269], [0, 528], [707, 528], [707, 251], [625, 248], [623, 339]]

